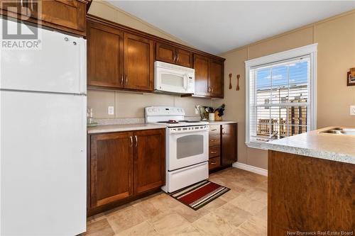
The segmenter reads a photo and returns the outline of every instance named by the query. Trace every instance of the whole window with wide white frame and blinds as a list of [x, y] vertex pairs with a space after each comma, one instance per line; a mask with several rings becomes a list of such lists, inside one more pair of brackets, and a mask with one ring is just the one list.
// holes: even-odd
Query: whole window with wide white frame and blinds
[[317, 44], [246, 61], [246, 145], [316, 127]]

